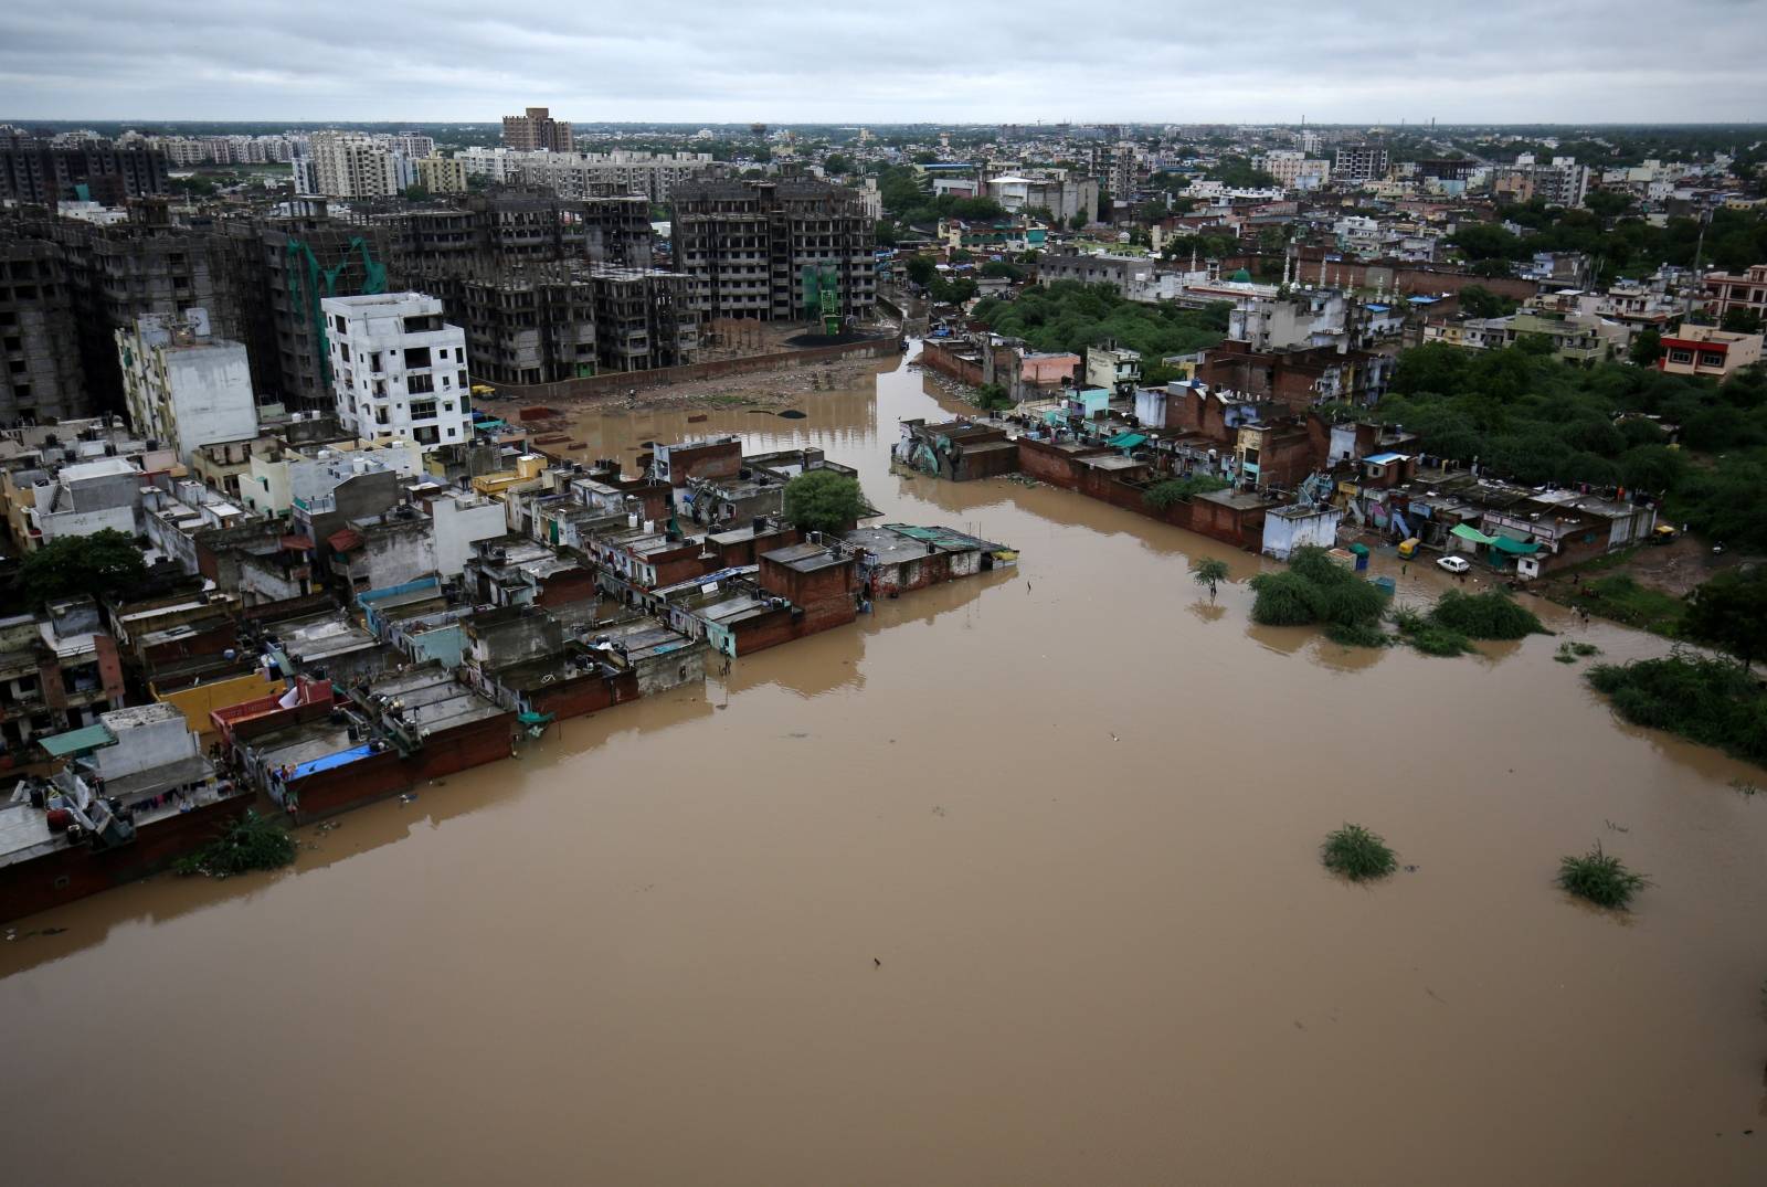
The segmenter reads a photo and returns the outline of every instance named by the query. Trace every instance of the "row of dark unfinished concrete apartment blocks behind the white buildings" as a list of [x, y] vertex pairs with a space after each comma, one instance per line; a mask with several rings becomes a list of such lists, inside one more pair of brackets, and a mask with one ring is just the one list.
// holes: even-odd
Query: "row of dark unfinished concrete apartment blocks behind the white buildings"
[[[643, 196], [532, 189], [348, 205], [302, 196], [200, 214], [143, 198], [106, 221], [21, 207], [0, 260], [14, 279], [44, 270], [51, 283], [0, 293], [28, 330], [0, 422], [117, 410], [113, 334], [193, 307], [217, 337], [246, 344], [260, 403], [288, 410], [332, 404], [327, 297], [438, 297], [466, 330], [475, 394], [523, 401], [631, 396], [737, 360], [767, 371], [793, 362], [753, 360], [800, 348], [866, 353], [894, 332], [871, 323], [873, 224], [853, 191], [811, 178], [689, 182], [675, 194], [673, 242], [659, 226]], [[689, 371], [700, 364], [712, 367]], [[595, 383], [640, 373], [657, 374]]]

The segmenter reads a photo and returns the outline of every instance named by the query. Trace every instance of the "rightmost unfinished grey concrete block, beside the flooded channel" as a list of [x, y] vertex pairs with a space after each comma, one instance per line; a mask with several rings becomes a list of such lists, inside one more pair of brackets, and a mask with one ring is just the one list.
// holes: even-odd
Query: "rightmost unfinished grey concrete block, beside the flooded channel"
[[684, 182], [673, 200], [675, 267], [705, 318], [841, 320], [876, 304], [876, 223], [845, 185], [813, 178]]

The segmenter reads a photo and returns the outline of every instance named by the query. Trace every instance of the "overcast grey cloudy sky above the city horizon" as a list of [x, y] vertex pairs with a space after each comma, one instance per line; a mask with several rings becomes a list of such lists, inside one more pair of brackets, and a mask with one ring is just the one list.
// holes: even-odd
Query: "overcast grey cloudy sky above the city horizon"
[[1767, 120], [1767, 0], [9, 0], [0, 120]]

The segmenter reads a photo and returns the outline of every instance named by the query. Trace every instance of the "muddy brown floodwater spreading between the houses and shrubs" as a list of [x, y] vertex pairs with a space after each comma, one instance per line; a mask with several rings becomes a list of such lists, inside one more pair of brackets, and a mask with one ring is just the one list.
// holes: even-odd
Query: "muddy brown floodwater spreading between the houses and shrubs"
[[[25, 920], [67, 931], [0, 943], [5, 1182], [1767, 1182], [1767, 797], [1726, 786], [1762, 772], [1617, 722], [1555, 639], [1346, 652], [1248, 624], [1253, 556], [891, 475], [896, 420], [956, 406], [878, 366], [802, 420], [580, 436], [813, 442], [1018, 572], [569, 721], [290, 871]], [[1329, 878], [1346, 820], [1407, 871]], [[1656, 883], [1629, 917], [1551, 885], [1596, 841]]]

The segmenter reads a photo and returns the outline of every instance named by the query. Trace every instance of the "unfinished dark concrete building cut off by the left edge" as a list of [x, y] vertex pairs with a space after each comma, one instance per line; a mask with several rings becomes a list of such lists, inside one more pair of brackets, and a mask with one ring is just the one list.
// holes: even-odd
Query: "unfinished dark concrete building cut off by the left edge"
[[62, 254], [51, 242], [0, 231], [0, 426], [87, 413]]

